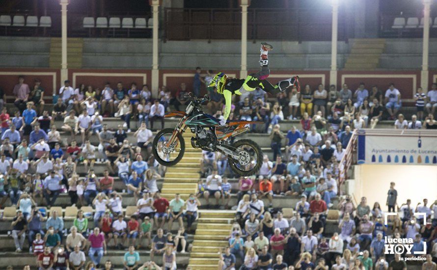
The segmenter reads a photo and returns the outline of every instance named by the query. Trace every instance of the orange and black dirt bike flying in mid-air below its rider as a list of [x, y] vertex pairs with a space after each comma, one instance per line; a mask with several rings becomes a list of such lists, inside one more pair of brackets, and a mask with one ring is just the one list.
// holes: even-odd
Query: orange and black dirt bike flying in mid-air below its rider
[[176, 128], [163, 129], [154, 138], [152, 149], [156, 161], [164, 166], [173, 166], [180, 162], [185, 153], [185, 140], [182, 134], [189, 128], [191, 146], [206, 151], [220, 152], [228, 159], [231, 169], [241, 175], [256, 174], [263, 162], [261, 148], [249, 139], [230, 142], [230, 138], [249, 130], [249, 125], [263, 122], [229, 120], [220, 126], [220, 119], [204, 113], [202, 104], [210, 101], [208, 95], [201, 98], [189, 93], [188, 106], [184, 111], [173, 111], [164, 117], [181, 117]]

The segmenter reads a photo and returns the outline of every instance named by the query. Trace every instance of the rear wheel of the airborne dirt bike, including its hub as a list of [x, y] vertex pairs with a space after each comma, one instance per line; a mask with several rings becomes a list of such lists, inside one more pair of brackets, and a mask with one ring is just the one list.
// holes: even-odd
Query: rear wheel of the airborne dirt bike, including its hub
[[238, 159], [228, 157], [232, 170], [241, 176], [256, 174], [263, 161], [263, 153], [258, 144], [252, 140], [243, 139], [236, 141], [232, 147], [239, 155]]

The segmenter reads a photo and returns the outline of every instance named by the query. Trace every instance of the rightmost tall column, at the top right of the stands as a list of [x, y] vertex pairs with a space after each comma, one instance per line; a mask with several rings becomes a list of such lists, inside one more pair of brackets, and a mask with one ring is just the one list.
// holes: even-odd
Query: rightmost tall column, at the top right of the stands
[[[430, 9], [431, 0], [423, 0], [423, 48], [422, 48], [422, 72], [420, 76], [420, 86], [424, 91], [428, 91], [428, 52], [430, 42]], [[415, 85], [414, 85], [415, 87]]]

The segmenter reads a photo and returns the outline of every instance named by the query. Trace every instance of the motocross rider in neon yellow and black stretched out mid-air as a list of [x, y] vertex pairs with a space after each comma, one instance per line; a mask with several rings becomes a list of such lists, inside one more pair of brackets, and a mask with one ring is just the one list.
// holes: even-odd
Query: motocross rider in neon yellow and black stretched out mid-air
[[300, 92], [299, 76], [294, 76], [290, 79], [279, 81], [277, 84], [272, 85], [266, 80], [269, 77], [269, 59], [267, 54], [269, 51], [273, 50], [273, 46], [268, 43], [261, 43], [260, 49], [260, 66], [261, 70], [257, 73], [250, 74], [246, 79], [228, 79], [226, 74], [219, 72], [214, 76], [213, 80], [209, 86], [214, 86], [217, 88], [217, 92], [224, 96], [225, 109], [224, 109], [224, 119], [220, 120], [220, 126], [226, 124], [226, 119], [229, 116], [232, 105], [232, 95], [242, 95], [246, 92], [255, 90], [256, 87], [260, 87], [264, 91], [276, 95], [279, 92], [285, 91], [288, 87], [294, 85], [297, 91]]

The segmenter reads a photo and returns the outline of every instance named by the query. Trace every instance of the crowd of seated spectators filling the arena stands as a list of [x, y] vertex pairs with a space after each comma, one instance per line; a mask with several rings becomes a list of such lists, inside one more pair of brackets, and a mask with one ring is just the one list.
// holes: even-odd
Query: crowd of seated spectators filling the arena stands
[[[202, 78], [200, 68], [196, 69], [194, 80], [208, 85], [211, 73], [208, 71], [208, 76]], [[195, 92], [198, 91], [200, 84], [193, 85]], [[385, 257], [381, 249], [381, 237], [397, 234], [414, 238], [416, 248], [428, 243], [436, 261], [437, 216], [431, 216], [429, 210], [437, 213], [436, 203], [430, 208], [424, 201], [414, 209], [407, 202], [400, 207], [403, 219], [394, 219], [389, 228], [381, 223], [379, 204], [370, 209], [365, 198], [357, 204], [350, 196], [334, 203], [342, 173], [339, 164], [352, 130], [374, 128], [385, 110], [390, 119], [396, 118], [395, 128], [437, 128], [433, 116], [437, 107], [434, 106], [436, 88], [433, 84], [428, 95], [422, 95], [418, 89], [417, 115], [411, 117], [411, 122], [398, 114], [401, 99], [393, 84], [385, 95], [376, 86], [369, 92], [360, 84], [353, 94], [346, 84], [340, 91], [333, 85], [327, 91], [320, 84], [314, 92], [305, 85], [301, 93], [295, 89], [289, 96], [280, 93], [272, 103], [261, 89], [240, 97], [229, 118], [265, 122], [262, 132], [270, 135], [273, 160], [264, 156], [258, 174], [239, 179], [238, 205], [233, 207], [237, 212], [236, 222], [220, 266], [223, 269], [239, 264], [242, 269], [290, 266], [304, 270], [328, 267], [368, 270], [376, 265], [378, 269], [404, 269], [403, 261]], [[216, 89], [208, 92], [212, 101], [206, 109], [219, 118], [222, 97]], [[100, 91], [83, 84], [74, 89], [65, 81], [55, 96], [50, 114], [44, 108], [41, 82], [35, 81], [30, 91], [20, 77], [14, 87], [17, 97], [14, 117], [10, 117], [6, 107], [0, 114], [0, 207], [10, 198], [19, 210], [11, 230], [16, 252], [23, 251], [27, 240], [29, 252], [35, 254], [41, 269], [69, 265], [70, 269], [91, 269], [92, 265], [109, 265], [110, 269], [110, 261], [101, 262], [108, 249], [126, 249], [125, 267], [134, 269], [141, 265], [136, 249], [147, 249], [151, 261], [139, 269], [160, 269], [154, 263], [156, 256], [162, 256], [164, 269], [175, 269], [176, 256], [186, 252], [188, 233], [194, 231], [192, 224], [201, 206], [199, 198], [206, 200], [206, 208], [232, 208], [229, 204], [232, 185], [228, 178], [235, 177], [226, 157], [203, 151], [200, 170], [206, 180], [199, 180], [198, 193], [190, 194], [186, 201], [179, 194], [170, 201], [161, 197], [157, 181], [164, 177], [165, 168], [151, 155], [152, 130], [156, 130], [153, 128], [156, 121], [164, 127], [164, 112], [170, 105], [178, 110], [186, 105], [187, 93], [185, 83], [181, 83], [174, 98], [162, 87], [154, 99], [147, 85], [139, 89], [132, 83], [126, 90], [121, 82], [115, 89], [107, 83]], [[424, 108], [429, 115], [422, 124]], [[109, 116], [119, 117], [124, 124], [111, 131], [105, 123]], [[301, 126], [292, 126], [283, 134], [280, 121], [287, 118], [300, 118]], [[137, 119], [136, 127], [131, 126], [133, 119]], [[61, 137], [55, 120], [62, 120], [60, 130], [66, 135]], [[131, 128], [136, 129], [135, 133]], [[255, 129], [251, 127], [252, 131]], [[128, 133], [134, 135], [136, 144], [129, 143]], [[76, 135], [81, 139], [76, 141]], [[98, 144], [93, 145], [93, 141]], [[98, 163], [107, 167], [101, 176], [94, 170]], [[114, 177], [134, 197], [137, 210], [130, 216], [123, 214], [124, 192], [115, 191]], [[390, 190], [389, 194], [394, 193], [394, 188]], [[65, 228], [62, 213], [50, 210], [62, 193], [68, 193], [71, 205], [91, 206], [94, 214], [79, 211], [73, 226]], [[278, 207], [279, 203], [275, 202], [279, 196], [299, 198], [292, 207], [292, 216], [284, 217], [282, 205]], [[394, 209], [397, 202], [392, 204], [390, 196], [387, 205]], [[268, 207], [264, 198], [269, 202]], [[341, 213], [338, 233], [326, 233], [329, 210]], [[419, 210], [429, 210], [434, 223], [419, 225], [412, 216]], [[88, 219], [92, 230], [88, 229]], [[237, 262], [236, 257], [241, 260]]]

